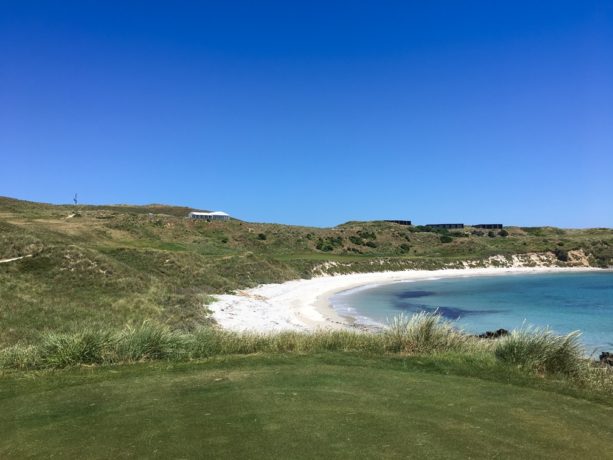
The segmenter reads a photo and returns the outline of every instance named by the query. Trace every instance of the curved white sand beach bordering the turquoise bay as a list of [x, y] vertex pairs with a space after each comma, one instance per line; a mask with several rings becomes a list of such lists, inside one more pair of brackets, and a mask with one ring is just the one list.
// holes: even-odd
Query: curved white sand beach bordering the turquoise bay
[[405, 270], [326, 275], [279, 284], [263, 284], [235, 294], [215, 296], [206, 307], [223, 329], [251, 332], [364, 329], [354, 318], [341, 316], [330, 303], [333, 295], [357, 287], [429, 278], [463, 278], [514, 274], [601, 271], [594, 267], [507, 267]]

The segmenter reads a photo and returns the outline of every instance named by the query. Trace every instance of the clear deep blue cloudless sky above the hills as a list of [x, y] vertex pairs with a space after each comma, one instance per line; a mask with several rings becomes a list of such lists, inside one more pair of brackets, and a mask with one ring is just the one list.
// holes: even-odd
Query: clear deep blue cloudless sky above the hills
[[0, 195], [613, 227], [613, 2], [0, 0]]

